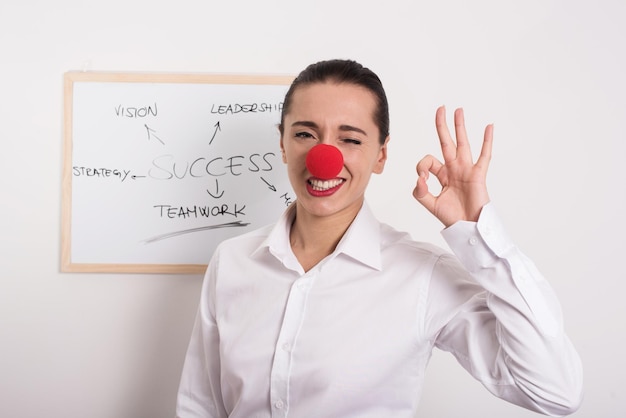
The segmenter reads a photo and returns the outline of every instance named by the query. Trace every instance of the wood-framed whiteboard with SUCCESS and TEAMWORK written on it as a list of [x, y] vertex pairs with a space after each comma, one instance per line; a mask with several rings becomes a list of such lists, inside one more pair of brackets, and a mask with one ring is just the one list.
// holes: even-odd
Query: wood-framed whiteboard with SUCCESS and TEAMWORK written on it
[[292, 77], [65, 74], [62, 270], [198, 273], [295, 195], [278, 132]]

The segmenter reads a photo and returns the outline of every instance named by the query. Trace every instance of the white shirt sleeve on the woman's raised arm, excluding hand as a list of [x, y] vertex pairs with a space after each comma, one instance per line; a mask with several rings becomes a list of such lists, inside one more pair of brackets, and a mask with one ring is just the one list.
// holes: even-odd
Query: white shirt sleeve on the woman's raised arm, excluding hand
[[552, 416], [578, 409], [582, 366], [559, 301], [492, 204], [442, 235], [456, 257], [440, 257], [430, 283], [434, 344], [500, 398]]

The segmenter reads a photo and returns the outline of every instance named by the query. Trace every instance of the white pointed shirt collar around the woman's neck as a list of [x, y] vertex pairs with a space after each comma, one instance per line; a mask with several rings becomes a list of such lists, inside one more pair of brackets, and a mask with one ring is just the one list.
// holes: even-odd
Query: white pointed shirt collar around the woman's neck
[[[283, 212], [267, 238], [253, 255], [260, 253], [263, 248], [267, 248], [286, 267], [296, 267], [291, 265], [293, 262], [299, 266], [289, 244], [289, 230], [295, 216], [295, 209], [296, 205], [291, 204]], [[332, 256], [345, 254], [373, 269], [381, 270], [380, 241], [380, 222], [372, 213], [367, 202], [364, 202], [356, 218], [337, 244]]]

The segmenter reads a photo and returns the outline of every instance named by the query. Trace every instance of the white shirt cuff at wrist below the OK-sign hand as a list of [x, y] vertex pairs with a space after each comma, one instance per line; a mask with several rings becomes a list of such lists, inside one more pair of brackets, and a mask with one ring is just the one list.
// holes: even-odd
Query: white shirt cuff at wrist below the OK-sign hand
[[441, 235], [470, 272], [493, 265], [514, 249], [491, 202], [483, 206], [478, 222], [456, 222], [441, 231]]

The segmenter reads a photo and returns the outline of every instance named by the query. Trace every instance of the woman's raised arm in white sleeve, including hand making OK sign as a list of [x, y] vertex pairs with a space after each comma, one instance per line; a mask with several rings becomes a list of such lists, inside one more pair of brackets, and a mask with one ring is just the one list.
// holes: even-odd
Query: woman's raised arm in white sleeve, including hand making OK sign
[[[571, 413], [581, 400], [582, 368], [563, 331], [558, 299], [489, 204], [493, 126], [485, 129], [474, 164], [462, 110], [454, 123], [456, 144], [445, 108], [437, 110], [444, 162], [423, 158], [413, 191], [446, 226], [444, 238], [461, 261], [440, 259], [431, 283], [436, 344], [497, 396], [548, 415]], [[438, 196], [428, 190], [430, 173], [441, 183]]]

